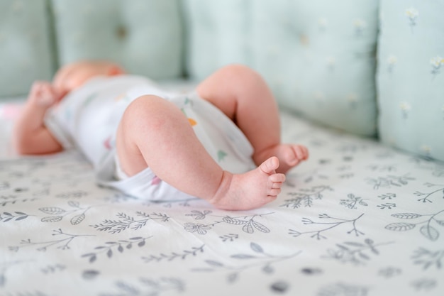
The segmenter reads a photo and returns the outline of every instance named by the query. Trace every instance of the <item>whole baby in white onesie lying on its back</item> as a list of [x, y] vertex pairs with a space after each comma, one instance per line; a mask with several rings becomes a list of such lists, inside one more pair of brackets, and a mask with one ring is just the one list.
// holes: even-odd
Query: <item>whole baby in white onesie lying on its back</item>
[[13, 131], [21, 154], [78, 148], [99, 185], [152, 200], [199, 197], [245, 210], [276, 199], [306, 147], [280, 140], [262, 77], [228, 65], [189, 94], [169, 93], [106, 61], [62, 67], [35, 82]]

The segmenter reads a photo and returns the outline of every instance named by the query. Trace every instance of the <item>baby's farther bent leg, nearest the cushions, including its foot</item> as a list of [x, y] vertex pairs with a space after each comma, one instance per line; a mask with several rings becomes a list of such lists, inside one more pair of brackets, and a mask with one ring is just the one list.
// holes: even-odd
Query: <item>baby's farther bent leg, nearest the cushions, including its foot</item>
[[287, 172], [308, 158], [306, 147], [282, 144], [279, 112], [272, 92], [256, 72], [242, 65], [218, 70], [197, 87], [199, 96], [230, 117], [245, 133], [257, 165], [271, 156], [279, 158], [277, 172]]

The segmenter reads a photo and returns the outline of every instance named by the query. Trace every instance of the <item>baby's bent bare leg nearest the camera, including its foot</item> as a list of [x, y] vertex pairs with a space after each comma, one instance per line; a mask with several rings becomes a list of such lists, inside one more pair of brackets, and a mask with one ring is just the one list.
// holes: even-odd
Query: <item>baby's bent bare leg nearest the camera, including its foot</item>
[[116, 146], [126, 174], [150, 167], [161, 180], [221, 209], [267, 204], [277, 197], [285, 180], [276, 173], [277, 158], [269, 158], [245, 174], [223, 171], [182, 111], [156, 96], [140, 97], [128, 106], [118, 126]]

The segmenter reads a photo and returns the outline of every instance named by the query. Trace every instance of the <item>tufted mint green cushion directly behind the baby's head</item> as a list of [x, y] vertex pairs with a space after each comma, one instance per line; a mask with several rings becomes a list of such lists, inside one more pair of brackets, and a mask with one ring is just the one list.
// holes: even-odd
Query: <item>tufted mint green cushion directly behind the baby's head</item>
[[60, 63], [107, 59], [153, 79], [182, 75], [178, 0], [52, 0]]

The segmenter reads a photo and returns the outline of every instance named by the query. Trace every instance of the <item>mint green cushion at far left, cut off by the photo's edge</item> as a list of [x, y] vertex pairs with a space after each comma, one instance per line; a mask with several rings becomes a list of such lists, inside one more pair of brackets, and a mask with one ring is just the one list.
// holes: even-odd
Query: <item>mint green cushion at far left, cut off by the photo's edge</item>
[[27, 94], [55, 69], [44, 0], [0, 1], [0, 98]]

